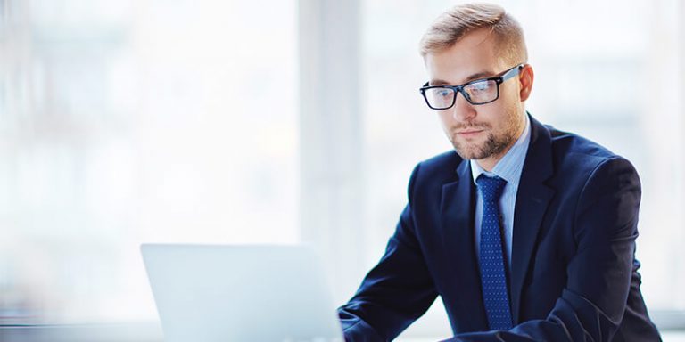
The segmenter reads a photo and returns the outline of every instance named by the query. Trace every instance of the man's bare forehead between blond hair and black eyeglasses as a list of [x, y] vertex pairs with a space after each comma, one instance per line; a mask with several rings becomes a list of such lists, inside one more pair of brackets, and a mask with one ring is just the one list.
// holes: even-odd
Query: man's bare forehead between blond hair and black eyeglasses
[[427, 53], [425, 68], [431, 84], [459, 85], [495, 75], [504, 66], [498, 57], [495, 35], [480, 28], [447, 49]]

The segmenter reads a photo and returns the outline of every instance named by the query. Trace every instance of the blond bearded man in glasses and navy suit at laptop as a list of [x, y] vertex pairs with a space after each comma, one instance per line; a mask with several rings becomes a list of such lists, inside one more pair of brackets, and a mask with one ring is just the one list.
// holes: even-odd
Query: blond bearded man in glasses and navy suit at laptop
[[502, 8], [464, 4], [421, 41], [450, 151], [421, 162], [385, 255], [339, 309], [348, 341], [397, 337], [437, 296], [454, 341], [657, 341], [635, 260], [640, 180], [524, 110], [533, 71]]

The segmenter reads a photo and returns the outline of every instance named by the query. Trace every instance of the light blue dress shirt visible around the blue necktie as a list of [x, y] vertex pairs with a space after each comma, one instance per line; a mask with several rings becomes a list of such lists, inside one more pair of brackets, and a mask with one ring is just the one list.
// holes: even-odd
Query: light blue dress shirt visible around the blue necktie
[[[516, 208], [516, 193], [518, 192], [518, 183], [521, 180], [521, 171], [524, 169], [525, 155], [528, 152], [528, 144], [531, 142], [531, 119], [525, 116], [525, 128], [521, 136], [514, 143], [514, 146], [507, 151], [507, 154], [499, 159], [491, 172], [485, 171], [480, 167], [474, 159], [471, 159], [471, 175], [475, 180], [479, 175], [485, 174], [487, 176], [499, 176], [499, 178], [507, 181], [504, 187], [502, 197], [499, 199], [499, 210], [502, 215], [502, 224], [504, 224], [504, 243], [507, 247], [507, 265], [511, 267], [511, 244], [514, 233], [514, 209]], [[476, 256], [481, 252], [481, 218], [483, 216], [483, 198], [477, 190], [476, 185], [476, 199], [475, 199], [475, 251]]]

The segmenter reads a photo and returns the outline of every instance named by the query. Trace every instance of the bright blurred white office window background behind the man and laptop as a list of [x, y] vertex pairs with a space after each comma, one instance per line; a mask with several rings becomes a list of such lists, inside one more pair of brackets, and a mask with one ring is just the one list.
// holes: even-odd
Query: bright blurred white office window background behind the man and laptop
[[[685, 4], [495, 2], [532, 115], [640, 172], [643, 294], [685, 328]], [[342, 304], [450, 149], [417, 42], [457, 3], [0, 0], [0, 324], [154, 322], [142, 242], [312, 242]]]

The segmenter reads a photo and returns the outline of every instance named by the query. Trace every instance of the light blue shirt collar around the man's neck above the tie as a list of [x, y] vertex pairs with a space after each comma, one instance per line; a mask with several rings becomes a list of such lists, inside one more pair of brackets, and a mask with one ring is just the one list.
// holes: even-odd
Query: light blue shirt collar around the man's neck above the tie
[[497, 175], [499, 178], [507, 181], [508, 184], [515, 184], [517, 187], [518, 181], [521, 179], [521, 171], [524, 169], [524, 160], [528, 151], [528, 144], [531, 141], [530, 127], [531, 119], [526, 115], [524, 132], [521, 133], [518, 140], [516, 140], [514, 145], [507, 151], [502, 159], [499, 159], [491, 172], [485, 171], [474, 159], [470, 159], [471, 175], [474, 177], [474, 183], [481, 174], [488, 176]]

